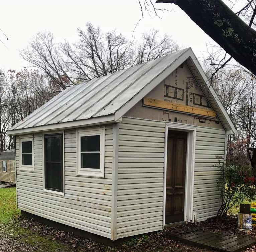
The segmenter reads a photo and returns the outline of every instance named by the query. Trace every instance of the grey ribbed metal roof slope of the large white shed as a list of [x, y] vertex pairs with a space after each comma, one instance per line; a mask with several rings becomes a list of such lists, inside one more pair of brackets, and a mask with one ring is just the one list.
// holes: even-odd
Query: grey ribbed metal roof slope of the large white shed
[[[166, 74], [169, 75], [175, 70], [176, 64], [184, 62], [191, 53], [193, 54], [191, 48], [183, 49], [156, 60], [68, 87], [15, 124], [9, 129], [8, 134], [34, 132], [54, 127], [55, 129], [66, 128], [72, 126], [71, 122], [75, 127], [88, 125], [89, 122], [116, 121], [117, 111], [123, 113], [123, 109], [120, 109], [126, 109], [131, 100], [133, 100], [130, 103], [132, 105], [137, 99], [141, 99], [141, 95], [138, 94], [143, 94], [151, 88], [152, 83], [155, 86], [159, 84], [161, 81], [158, 81], [157, 77], [161, 77], [162, 80]], [[155, 83], [155, 80], [158, 83]], [[121, 117], [123, 114], [118, 116]], [[49, 125], [52, 125], [51, 128], [42, 127]], [[21, 131], [22, 129], [27, 130]]]

